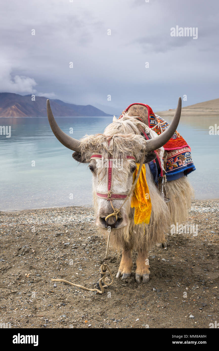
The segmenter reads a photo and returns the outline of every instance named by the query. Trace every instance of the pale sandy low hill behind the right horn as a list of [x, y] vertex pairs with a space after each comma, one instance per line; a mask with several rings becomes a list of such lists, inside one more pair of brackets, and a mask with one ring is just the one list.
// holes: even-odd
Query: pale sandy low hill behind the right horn
[[[175, 109], [156, 112], [160, 117], [173, 116]], [[182, 108], [182, 116], [219, 116], [219, 99], [199, 102]]]

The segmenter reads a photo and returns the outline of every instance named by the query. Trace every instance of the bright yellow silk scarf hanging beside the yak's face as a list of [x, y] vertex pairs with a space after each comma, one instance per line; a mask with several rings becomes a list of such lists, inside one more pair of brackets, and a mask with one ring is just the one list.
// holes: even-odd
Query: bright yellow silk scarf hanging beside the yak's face
[[[140, 164], [136, 163], [136, 166], [136, 171], [133, 174], [133, 182], [135, 181]], [[131, 207], [135, 207], [135, 224], [149, 223], [151, 214], [151, 201], [144, 164], [141, 168], [141, 173], [139, 179], [137, 180], [134, 194], [131, 199]]]

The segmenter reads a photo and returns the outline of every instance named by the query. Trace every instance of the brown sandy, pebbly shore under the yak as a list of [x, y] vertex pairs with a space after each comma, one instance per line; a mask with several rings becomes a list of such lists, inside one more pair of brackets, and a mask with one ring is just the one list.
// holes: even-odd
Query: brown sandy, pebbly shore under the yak
[[[195, 201], [194, 233], [168, 234], [167, 249], [149, 253], [150, 282], [116, 280], [103, 295], [51, 278], [94, 287], [105, 242], [85, 207], [1, 212], [0, 323], [12, 328], [209, 328], [219, 321], [219, 200]], [[115, 277], [120, 257], [111, 252]]]

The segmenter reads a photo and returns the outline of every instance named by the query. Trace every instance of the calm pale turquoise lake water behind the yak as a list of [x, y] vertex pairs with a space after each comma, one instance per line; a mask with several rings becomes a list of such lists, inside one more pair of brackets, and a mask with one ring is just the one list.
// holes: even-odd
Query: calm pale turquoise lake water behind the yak
[[[72, 127], [70, 135], [79, 139], [86, 133], [103, 132], [112, 117], [59, 117], [56, 121], [65, 133]], [[182, 118], [178, 127], [192, 148], [197, 170], [188, 177], [197, 199], [219, 198], [219, 136], [209, 135], [209, 126], [215, 123], [215, 117], [198, 122]], [[0, 135], [1, 210], [92, 204], [88, 166], [73, 160], [72, 151], [54, 137], [47, 118], [0, 118], [0, 125], [11, 126], [11, 138]]]

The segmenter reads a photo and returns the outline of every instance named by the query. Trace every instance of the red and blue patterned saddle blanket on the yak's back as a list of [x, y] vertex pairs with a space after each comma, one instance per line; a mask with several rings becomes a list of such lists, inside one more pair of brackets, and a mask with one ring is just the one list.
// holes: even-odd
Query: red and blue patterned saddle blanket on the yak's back
[[[149, 127], [153, 128], [153, 130], [158, 135], [161, 134], [161, 130], [164, 132], [168, 128], [169, 124], [160, 116], [155, 115], [150, 106], [144, 106], [147, 106], [148, 108]], [[167, 181], [179, 179], [195, 171], [195, 166], [193, 164], [191, 155], [191, 148], [177, 131], [173, 134], [172, 138], [170, 138], [169, 141], [163, 145], [163, 147], [165, 151], [167, 151], [165, 168]], [[155, 183], [157, 183], [159, 176], [162, 176], [162, 170], [160, 170], [160, 167], [156, 160], [149, 162], [149, 167], [150, 171], [153, 174]]]

